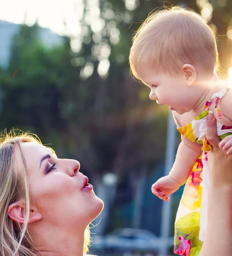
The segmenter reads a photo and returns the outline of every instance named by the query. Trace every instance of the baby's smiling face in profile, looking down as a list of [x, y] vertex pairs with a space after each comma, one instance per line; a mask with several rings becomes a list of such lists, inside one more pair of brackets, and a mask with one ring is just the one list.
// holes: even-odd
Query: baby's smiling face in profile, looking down
[[170, 76], [149, 67], [141, 67], [138, 75], [150, 87], [149, 97], [156, 99], [157, 104], [168, 105], [178, 114], [189, 112], [194, 107], [194, 91], [187, 85], [184, 75]]

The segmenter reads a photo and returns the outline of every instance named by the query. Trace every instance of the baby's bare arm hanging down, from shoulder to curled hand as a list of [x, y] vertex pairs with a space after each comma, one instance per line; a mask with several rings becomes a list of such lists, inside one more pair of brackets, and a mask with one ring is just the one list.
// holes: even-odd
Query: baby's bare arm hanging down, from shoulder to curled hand
[[202, 152], [201, 147], [202, 145], [182, 136], [182, 142], [178, 147], [176, 160], [169, 175], [160, 178], [152, 185], [152, 193], [164, 201], [169, 201], [169, 196], [186, 183], [191, 169]]

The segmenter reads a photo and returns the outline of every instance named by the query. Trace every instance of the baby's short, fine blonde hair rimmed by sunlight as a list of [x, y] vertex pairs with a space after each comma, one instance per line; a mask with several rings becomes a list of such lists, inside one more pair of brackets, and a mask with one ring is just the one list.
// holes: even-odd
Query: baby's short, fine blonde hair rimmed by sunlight
[[170, 75], [183, 64], [200, 67], [207, 74], [219, 66], [215, 32], [197, 13], [172, 7], [152, 13], [132, 39], [131, 73], [139, 79], [139, 67], [149, 66]]

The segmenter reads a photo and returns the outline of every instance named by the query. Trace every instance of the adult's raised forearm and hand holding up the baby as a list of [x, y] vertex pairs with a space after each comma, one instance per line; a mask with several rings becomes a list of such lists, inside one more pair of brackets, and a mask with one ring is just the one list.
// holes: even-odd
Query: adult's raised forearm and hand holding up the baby
[[[207, 117], [206, 137], [213, 146], [208, 152], [210, 188], [206, 239], [199, 256], [231, 255], [232, 252], [232, 156], [221, 148], [231, 136], [220, 142], [216, 119]], [[219, 144], [219, 145], [218, 145]]]

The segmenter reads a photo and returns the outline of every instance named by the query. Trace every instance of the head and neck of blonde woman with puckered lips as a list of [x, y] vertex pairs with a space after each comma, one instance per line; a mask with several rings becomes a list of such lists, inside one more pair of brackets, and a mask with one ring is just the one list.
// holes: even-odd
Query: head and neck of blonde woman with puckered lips
[[83, 256], [103, 202], [76, 160], [31, 136], [0, 144], [0, 256]]

